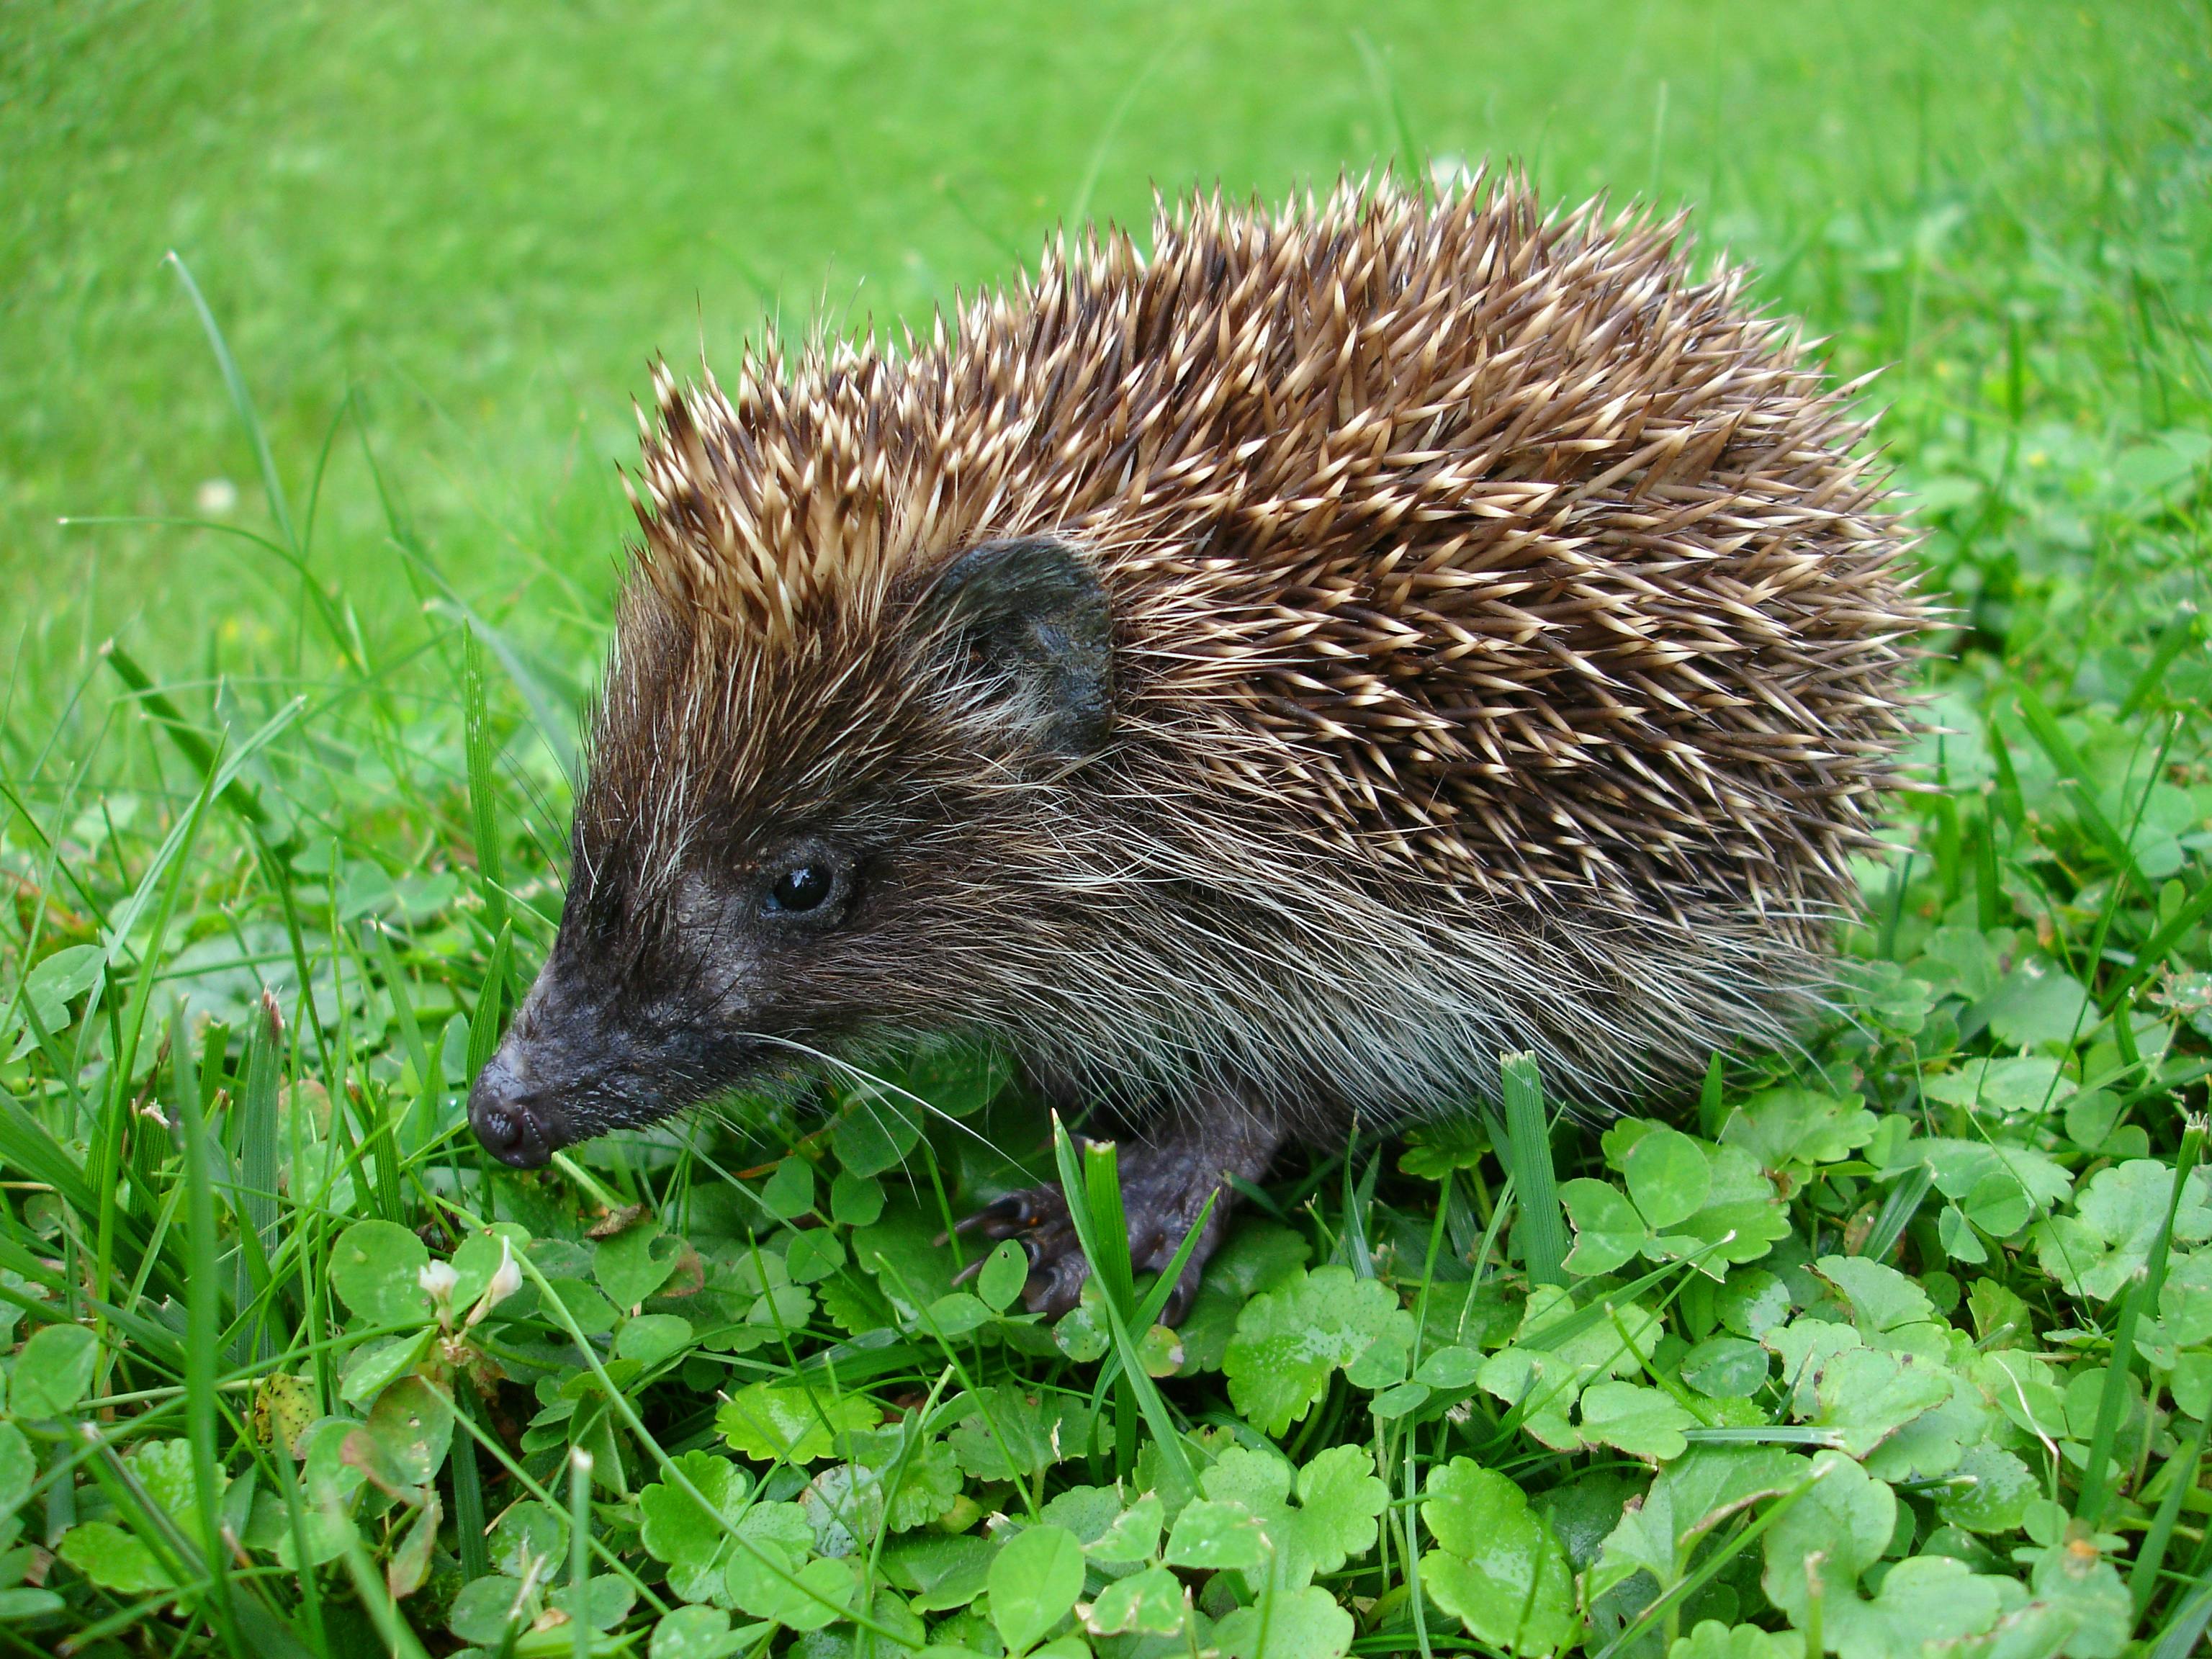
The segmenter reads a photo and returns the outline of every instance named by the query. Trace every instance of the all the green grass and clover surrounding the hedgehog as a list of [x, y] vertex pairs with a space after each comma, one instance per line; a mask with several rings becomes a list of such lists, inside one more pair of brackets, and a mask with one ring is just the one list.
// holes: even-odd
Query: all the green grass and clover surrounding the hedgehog
[[[9, 11], [0, 1648], [2179, 1659], [2208, 42], [2026, 2]], [[1495, 1150], [1312, 1155], [1179, 1334], [1113, 1168], [984, 1055], [487, 1168], [460, 1097], [551, 938], [650, 356], [918, 323], [1155, 184], [1409, 153], [1690, 206], [1887, 369], [1958, 626], [1807, 1053], [1548, 1159], [1533, 1077]], [[1055, 1161], [1106, 1287], [1048, 1329], [929, 1241]]]

